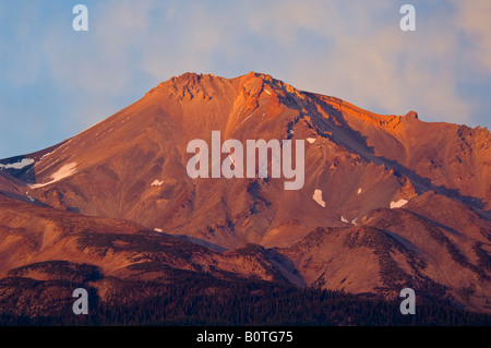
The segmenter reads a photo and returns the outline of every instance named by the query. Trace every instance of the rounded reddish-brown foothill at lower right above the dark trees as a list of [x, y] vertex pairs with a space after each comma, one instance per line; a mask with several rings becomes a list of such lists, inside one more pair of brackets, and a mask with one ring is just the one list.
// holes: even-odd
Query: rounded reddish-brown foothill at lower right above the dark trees
[[[433, 204], [444, 216], [420, 215]], [[358, 226], [318, 228], [279, 252], [307, 284], [388, 297], [409, 287], [435, 301], [489, 310], [490, 231], [464, 204], [428, 192], [404, 208], [375, 209]]]

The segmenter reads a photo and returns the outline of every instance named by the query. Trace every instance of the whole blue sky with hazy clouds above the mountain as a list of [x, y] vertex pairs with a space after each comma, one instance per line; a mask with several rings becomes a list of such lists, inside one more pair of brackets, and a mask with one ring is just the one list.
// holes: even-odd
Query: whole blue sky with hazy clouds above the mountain
[[[88, 32], [72, 9], [88, 8]], [[403, 32], [400, 5], [416, 8]], [[491, 128], [490, 0], [0, 0], [0, 158], [183, 72], [264, 72], [380, 113]]]

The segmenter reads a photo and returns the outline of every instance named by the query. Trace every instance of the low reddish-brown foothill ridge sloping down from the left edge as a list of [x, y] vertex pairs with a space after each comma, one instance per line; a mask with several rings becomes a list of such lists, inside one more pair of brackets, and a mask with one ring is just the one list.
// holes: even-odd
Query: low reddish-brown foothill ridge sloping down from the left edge
[[217, 252], [121, 219], [87, 217], [2, 195], [0, 207], [3, 276], [51, 279], [51, 263], [61, 256], [74, 266], [89, 264], [106, 277], [165, 279], [168, 273], [196, 271], [218, 278], [235, 275], [303, 285], [300, 276], [283, 272], [280, 256], [259, 245]]

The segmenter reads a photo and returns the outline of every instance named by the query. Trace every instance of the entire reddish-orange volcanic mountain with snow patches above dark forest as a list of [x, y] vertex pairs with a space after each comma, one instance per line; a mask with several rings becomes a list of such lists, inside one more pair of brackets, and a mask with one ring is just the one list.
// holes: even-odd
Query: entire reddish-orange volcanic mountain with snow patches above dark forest
[[[303, 187], [191, 179], [187, 146], [213, 131], [304, 140]], [[491, 312], [490, 147], [486, 128], [376, 115], [266, 74], [185, 73], [0, 160], [0, 272], [39, 277], [63, 261], [120, 278], [170, 267], [384, 297], [411, 287]], [[152, 272], [135, 273], [143, 262]]]

